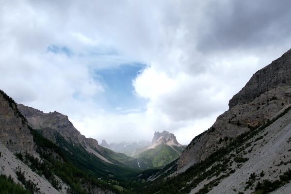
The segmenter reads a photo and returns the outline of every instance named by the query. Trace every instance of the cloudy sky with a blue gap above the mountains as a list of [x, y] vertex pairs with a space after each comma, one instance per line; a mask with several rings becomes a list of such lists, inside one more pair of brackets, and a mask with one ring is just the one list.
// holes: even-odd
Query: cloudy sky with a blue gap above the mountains
[[0, 0], [0, 89], [86, 137], [187, 145], [291, 49], [289, 0]]

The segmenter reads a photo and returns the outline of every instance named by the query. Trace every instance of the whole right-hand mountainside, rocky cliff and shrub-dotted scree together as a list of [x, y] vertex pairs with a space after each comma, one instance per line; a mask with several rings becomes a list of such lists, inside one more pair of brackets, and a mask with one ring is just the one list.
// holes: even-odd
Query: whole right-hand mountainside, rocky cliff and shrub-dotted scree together
[[290, 193], [290, 129], [291, 50], [254, 74], [229, 110], [150, 176], [142, 192]]

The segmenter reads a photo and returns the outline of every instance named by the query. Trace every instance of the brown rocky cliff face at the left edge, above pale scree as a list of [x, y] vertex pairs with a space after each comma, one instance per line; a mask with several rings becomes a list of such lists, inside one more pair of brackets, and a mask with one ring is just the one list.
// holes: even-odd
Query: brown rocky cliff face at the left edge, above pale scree
[[32, 153], [33, 137], [16, 103], [0, 90], [0, 142], [11, 152]]

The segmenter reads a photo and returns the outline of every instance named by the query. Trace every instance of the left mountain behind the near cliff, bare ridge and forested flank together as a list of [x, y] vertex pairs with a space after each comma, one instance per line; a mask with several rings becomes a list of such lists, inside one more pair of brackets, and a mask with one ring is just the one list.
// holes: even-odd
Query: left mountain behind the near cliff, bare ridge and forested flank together
[[[122, 178], [135, 173], [135, 170], [126, 167], [139, 169], [135, 159], [103, 148], [98, 145], [97, 140], [83, 136], [66, 115], [57, 112], [43, 113], [22, 104], [18, 106], [30, 125], [44, 137], [73, 154], [75, 159], [71, 160], [79, 167], [90, 169], [103, 178]], [[95, 156], [92, 157], [91, 154]]]

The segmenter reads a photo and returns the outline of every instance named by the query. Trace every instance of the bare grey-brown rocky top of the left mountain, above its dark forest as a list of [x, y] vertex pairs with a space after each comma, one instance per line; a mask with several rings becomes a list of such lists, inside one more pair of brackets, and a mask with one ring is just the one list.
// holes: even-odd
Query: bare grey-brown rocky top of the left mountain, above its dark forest
[[56, 143], [55, 133], [59, 133], [68, 142], [74, 145], [81, 145], [85, 149], [92, 148], [102, 152], [97, 140], [86, 138], [69, 121], [64, 114], [53, 112], [44, 113], [32, 107], [18, 104], [19, 111], [27, 118], [29, 124], [34, 129], [39, 129], [42, 134], [50, 141]]

